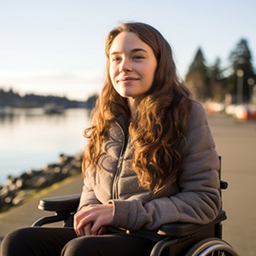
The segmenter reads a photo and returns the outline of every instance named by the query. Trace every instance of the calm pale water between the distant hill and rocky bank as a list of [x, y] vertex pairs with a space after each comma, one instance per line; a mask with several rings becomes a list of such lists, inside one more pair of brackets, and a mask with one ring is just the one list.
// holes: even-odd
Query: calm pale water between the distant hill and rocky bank
[[81, 153], [88, 125], [89, 113], [80, 108], [51, 115], [41, 108], [15, 109], [13, 116], [0, 117], [0, 184], [8, 175], [55, 163], [62, 153]]

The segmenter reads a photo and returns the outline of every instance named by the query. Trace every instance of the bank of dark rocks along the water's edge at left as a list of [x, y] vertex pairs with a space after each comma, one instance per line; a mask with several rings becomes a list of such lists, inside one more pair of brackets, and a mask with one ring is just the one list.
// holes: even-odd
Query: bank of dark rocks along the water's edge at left
[[0, 212], [20, 204], [35, 191], [81, 173], [82, 159], [82, 154], [61, 154], [55, 164], [44, 166], [38, 171], [29, 170], [20, 177], [9, 176], [6, 185], [0, 186]]

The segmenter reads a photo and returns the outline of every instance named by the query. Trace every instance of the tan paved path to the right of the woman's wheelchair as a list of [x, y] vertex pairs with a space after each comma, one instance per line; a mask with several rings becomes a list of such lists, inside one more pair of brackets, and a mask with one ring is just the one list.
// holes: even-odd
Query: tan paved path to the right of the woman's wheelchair
[[209, 117], [218, 154], [222, 155], [224, 240], [241, 256], [256, 255], [256, 122]]

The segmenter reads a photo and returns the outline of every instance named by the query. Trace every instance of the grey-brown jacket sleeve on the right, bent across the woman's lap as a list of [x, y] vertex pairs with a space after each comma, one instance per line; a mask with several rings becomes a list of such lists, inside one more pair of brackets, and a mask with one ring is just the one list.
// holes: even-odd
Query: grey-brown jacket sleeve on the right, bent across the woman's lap
[[189, 117], [188, 154], [179, 173], [177, 194], [152, 201], [113, 200], [113, 227], [156, 230], [161, 224], [207, 224], [220, 208], [218, 154], [204, 108], [197, 102]]

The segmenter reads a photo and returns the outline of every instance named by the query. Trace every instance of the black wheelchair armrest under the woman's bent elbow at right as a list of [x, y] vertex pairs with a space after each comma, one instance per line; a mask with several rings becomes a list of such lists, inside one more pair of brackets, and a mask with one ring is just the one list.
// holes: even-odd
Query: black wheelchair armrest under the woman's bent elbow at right
[[211, 223], [201, 225], [201, 224], [190, 224], [190, 223], [172, 223], [172, 224], [163, 224], [158, 230], [158, 234], [164, 236], [189, 236], [200, 230], [206, 229], [212, 224], [218, 224], [224, 219], [226, 219], [226, 212], [221, 210], [218, 213], [217, 218], [215, 218]]

